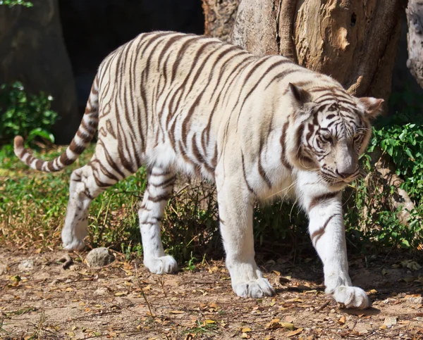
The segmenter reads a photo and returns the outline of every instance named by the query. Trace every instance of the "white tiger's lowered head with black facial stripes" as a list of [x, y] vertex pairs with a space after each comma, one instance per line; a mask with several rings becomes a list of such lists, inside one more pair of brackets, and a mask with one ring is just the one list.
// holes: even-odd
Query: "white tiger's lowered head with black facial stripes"
[[356, 98], [341, 87], [310, 92], [289, 84], [297, 103], [297, 145], [291, 153], [302, 170], [319, 172], [333, 187], [343, 187], [360, 175], [358, 158], [372, 135], [370, 120], [381, 112], [383, 99]]

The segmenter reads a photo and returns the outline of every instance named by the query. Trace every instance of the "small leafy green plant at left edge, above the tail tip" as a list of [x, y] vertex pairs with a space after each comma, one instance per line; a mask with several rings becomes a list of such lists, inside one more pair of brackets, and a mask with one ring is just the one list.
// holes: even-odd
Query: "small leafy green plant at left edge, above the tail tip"
[[54, 142], [51, 128], [57, 113], [51, 110], [53, 97], [40, 92], [27, 94], [20, 82], [0, 86], [0, 139], [10, 141], [23, 135], [25, 141], [41, 137]]

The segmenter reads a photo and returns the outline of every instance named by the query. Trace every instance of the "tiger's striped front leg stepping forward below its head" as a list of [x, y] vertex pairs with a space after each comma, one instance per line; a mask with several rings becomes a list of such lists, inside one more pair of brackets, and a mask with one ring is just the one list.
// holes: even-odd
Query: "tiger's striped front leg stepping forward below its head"
[[[326, 294], [347, 308], [367, 308], [369, 298], [364, 290], [353, 287], [348, 275], [347, 246], [341, 192], [329, 191], [311, 175], [298, 178], [302, 206], [309, 215], [309, 233], [314, 248], [324, 265]], [[314, 183], [317, 184], [314, 184]]]

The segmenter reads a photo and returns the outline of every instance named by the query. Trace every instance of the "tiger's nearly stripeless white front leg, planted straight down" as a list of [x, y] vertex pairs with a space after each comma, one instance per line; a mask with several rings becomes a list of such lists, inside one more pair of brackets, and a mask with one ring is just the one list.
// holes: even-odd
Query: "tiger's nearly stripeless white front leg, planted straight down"
[[275, 294], [255, 263], [252, 234], [252, 197], [240, 179], [225, 182], [216, 175], [220, 229], [226, 251], [226, 267], [231, 275], [235, 294], [262, 298]]

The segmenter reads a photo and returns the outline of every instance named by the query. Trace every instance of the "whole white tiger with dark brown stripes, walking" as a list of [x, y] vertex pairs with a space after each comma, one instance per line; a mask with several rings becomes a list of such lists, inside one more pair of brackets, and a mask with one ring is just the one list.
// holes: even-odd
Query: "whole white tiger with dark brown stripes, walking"
[[348, 277], [340, 191], [359, 174], [369, 120], [381, 103], [350, 96], [331, 77], [281, 56], [253, 56], [192, 34], [152, 32], [102, 62], [78, 132], [59, 158], [34, 158], [21, 137], [15, 152], [31, 168], [59, 171], [78, 158], [98, 128], [94, 156], [71, 176], [62, 232], [68, 250], [84, 246], [92, 199], [146, 165], [140, 229], [144, 263], [156, 273], [177, 268], [160, 239], [176, 172], [216, 182], [226, 265], [239, 296], [274, 294], [255, 263], [253, 202], [296, 196], [309, 214], [326, 291], [348, 307], [364, 308], [366, 294]]

